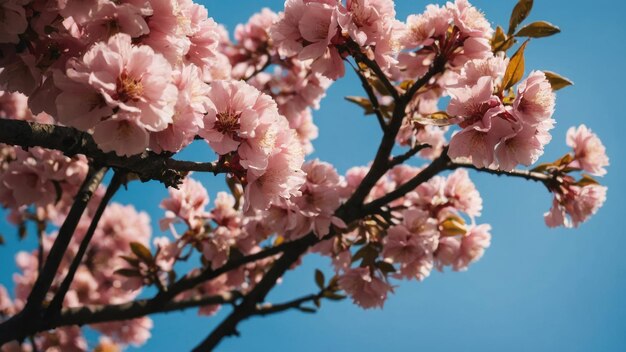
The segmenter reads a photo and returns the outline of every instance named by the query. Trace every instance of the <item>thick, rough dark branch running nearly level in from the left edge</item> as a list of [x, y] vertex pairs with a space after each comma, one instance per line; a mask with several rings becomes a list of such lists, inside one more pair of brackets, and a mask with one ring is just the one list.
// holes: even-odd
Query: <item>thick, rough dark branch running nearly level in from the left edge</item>
[[167, 155], [146, 151], [130, 157], [101, 151], [89, 133], [71, 127], [45, 125], [35, 122], [0, 119], [0, 143], [24, 148], [43, 147], [63, 152], [67, 156], [83, 154], [98, 165], [137, 174], [143, 181], [157, 180], [175, 187], [190, 171], [222, 173], [226, 170], [217, 162], [196, 163], [171, 159]]

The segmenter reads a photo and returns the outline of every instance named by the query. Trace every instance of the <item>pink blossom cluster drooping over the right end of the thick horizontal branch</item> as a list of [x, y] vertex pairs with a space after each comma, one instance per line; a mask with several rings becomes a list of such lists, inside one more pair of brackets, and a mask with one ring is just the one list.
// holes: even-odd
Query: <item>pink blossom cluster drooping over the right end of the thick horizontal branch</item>
[[298, 195], [304, 152], [272, 98], [241, 81], [215, 81], [208, 96], [199, 134], [245, 184], [246, 209]]

